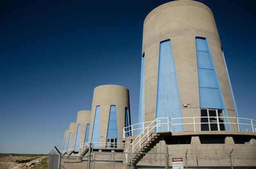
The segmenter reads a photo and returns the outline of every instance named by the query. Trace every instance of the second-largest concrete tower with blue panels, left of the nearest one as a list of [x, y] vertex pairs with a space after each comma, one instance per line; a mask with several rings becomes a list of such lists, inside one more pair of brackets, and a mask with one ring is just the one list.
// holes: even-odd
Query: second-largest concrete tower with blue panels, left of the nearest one
[[[96, 87], [92, 99], [91, 124], [89, 140], [92, 143], [107, 143], [110, 141], [107, 138], [122, 143], [123, 128], [130, 125], [129, 90], [117, 85]], [[103, 144], [100, 147], [105, 146]]]

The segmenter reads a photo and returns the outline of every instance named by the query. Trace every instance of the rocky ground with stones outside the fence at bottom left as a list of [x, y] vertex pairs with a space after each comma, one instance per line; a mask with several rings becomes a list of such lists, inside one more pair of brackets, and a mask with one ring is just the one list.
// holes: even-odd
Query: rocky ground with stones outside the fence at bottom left
[[[35, 159], [25, 163], [16, 162], [21, 160], [29, 160], [32, 158], [35, 158]], [[46, 158], [46, 156], [41, 156], [41, 157], [3, 156], [3, 157], [0, 157], [0, 169], [32, 169], [35, 165], [40, 164], [43, 158]]]

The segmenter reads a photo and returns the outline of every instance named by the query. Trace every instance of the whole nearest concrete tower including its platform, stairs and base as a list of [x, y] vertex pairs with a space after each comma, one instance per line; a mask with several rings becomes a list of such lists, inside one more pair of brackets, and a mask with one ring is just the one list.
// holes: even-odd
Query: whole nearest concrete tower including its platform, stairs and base
[[[250, 132], [242, 132], [237, 117], [209, 7], [177, 0], [153, 9], [143, 27], [140, 135], [124, 138], [125, 151], [161, 152], [167, 147], [172, 158], [190, 154], [190, 166], [199, 166], [201, 159], [205, 167], [226, 166], [230, 160], [217, 154], [234, 150], [239, 154], [234, 159], [237, 166], [255, 166], [255, 125], [250, 120], [245, 126]], [[135, 165], [145, 165], [146, 159], [146, 165], [154, 165], [150, 154], [143, 160], [134, 158]]]

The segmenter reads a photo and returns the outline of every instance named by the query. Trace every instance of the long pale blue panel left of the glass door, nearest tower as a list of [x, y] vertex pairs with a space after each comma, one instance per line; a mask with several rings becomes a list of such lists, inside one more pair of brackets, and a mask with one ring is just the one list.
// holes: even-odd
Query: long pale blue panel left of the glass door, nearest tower
[[[180, 96], [170, 40], [160, 42], [159, 47], [155, 118], [161, 117], [182, 118]], [[161, 123], [167, 122], [168, 121], [161, 121]], [[182, 124], [182, 119], [173, 120], [171, 123]], [[172, 125], [171, 130], [168, 129], [168, 125], [161, 126], [161, 131], [168, 130], [171, 132], [184, 132], [183, 125]]]

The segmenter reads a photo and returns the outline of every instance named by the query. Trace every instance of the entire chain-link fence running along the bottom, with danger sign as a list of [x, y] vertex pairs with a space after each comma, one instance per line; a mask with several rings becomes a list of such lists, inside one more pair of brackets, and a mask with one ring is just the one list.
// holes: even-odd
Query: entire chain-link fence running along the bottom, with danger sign
[[[248, 156], [242, 157], [239, 149], [215, 153], [167, 148], [158, 153], [92, 151], [85, 156], [67, 156], [54, 148], [48, 158], [49, 169], [256, 169], [256, 154], [249, 149]], [[249, 167], [240, 166], [245, 159]]]

